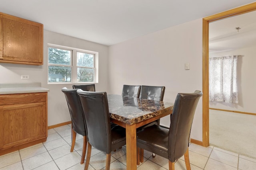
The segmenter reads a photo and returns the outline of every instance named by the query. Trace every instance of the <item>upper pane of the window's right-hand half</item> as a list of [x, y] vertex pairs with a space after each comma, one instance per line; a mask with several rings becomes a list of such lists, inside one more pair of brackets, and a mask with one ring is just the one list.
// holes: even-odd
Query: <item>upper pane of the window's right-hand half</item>
[[94, 55], [77, 52], [77, 66], [94, 67]]

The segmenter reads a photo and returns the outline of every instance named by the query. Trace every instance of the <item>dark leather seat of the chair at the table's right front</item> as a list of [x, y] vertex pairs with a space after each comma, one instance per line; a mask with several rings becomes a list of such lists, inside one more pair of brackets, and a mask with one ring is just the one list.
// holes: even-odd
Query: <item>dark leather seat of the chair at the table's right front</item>
[[168, 135], [169, 130], [164, 127], [146, 127], [137, 132], [137, 147], [168, 158]]

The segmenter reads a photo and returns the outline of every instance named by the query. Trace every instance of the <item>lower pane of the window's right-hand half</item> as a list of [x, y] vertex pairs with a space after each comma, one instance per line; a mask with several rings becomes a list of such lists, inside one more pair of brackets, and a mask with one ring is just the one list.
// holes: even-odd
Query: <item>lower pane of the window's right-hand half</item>
[[94, 69], [77, 68], [77, 82], [94, 82]]

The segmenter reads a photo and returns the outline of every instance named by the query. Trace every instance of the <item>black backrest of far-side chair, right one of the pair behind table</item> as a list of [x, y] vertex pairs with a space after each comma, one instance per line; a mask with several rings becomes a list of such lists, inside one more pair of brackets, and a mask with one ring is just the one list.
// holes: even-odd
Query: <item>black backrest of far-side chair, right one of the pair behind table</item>
[[165, 90], [164, 86], [141, 86], [140, 98], [163, 101], [164, 90]]

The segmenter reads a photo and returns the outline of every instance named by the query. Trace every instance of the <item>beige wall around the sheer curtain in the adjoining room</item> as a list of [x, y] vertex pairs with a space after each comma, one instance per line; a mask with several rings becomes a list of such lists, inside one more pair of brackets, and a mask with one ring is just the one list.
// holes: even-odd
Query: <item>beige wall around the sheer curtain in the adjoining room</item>
[[256, 105], [253, 97], [256, 96], [256, 46], [232, 51], [210, 53], [210, 57], [222, 57], [227, 55], [243, 55], [237, 61], [238, 104], [224, 102], [210, 102], [209, 107], [256, 113]]

